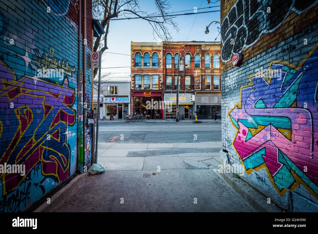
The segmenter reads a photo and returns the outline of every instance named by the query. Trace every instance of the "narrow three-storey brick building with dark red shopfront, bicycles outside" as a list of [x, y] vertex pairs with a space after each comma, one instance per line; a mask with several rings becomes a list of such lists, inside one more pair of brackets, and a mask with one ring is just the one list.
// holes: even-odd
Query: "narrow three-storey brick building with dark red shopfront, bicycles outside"
[[162, 42], [131, 42], [131, 102], [133, 115], [163, 119]]

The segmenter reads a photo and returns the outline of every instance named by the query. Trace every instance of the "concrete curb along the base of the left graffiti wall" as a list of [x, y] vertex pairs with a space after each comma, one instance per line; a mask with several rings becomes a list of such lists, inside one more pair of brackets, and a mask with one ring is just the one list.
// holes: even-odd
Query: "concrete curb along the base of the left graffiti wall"
[[[57, 191], [54, 195], [50, 197], [51, 203], [47, 204], [46, 199], [45, 202], [40, 205], [33, 212], [50, 212], [50, 210], [56, 207], [60, 201], [68, 195], [71, 191], [73, 191], [82, 181], [84, 181], [88, 177], [89, 173], [84, 172], [83, 174], [77, 175], [74, 179], [72, 179], [66, 186], [62, 187], [59, 191]], [[54, 189], [53, 189], [54, 190]]]

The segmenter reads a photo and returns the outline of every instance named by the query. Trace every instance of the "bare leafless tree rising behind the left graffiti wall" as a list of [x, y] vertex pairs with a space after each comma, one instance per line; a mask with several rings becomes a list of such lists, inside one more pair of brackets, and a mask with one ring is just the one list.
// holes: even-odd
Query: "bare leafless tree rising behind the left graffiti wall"
[[[94, 41], [93, 51], [100, 50], [104, 53], [107, 47], [107, 35], [110, 19], [118, 18], [118, 14], [122, 12], [125, 18], [131, 18], [128, 15], [136, 15], [144, 20], [147, 20], [153, 28], [153, 35], [165, 41], [170, 41], [172, 38], [169, 34], [168, 26], [172, 25], [178, 32], [177, 23], [174, 17], [167, 16], [171, 4], [168, 0], [154, 0], [156, 5], [156, 13], [148, 14], [140, 10], [138, 0], [93, 0], [93, 17], [95, 19], [103, 19], [101, 26], [105, 30], [105, 35], [97, 37]], [[93, 77], [98, 73], [99, 68], [94, 68]]]

